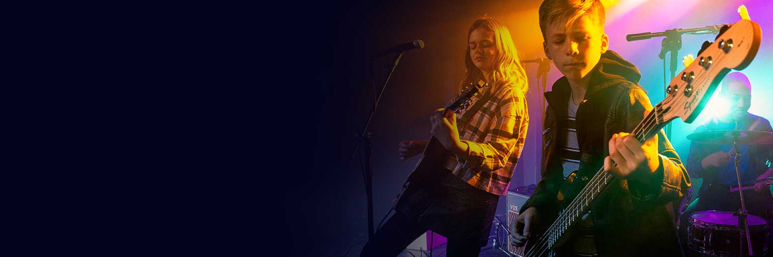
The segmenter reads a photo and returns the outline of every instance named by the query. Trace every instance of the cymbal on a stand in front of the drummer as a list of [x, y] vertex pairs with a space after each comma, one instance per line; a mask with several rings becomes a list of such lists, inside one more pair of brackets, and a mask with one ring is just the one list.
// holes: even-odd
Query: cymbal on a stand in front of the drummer
[[687, 139], [717, 145], [732, 145], [733, 142], [739, 145], [768, 145], [773, 144], [773, 132], [739, 129], [710, 130], [687, 135]]

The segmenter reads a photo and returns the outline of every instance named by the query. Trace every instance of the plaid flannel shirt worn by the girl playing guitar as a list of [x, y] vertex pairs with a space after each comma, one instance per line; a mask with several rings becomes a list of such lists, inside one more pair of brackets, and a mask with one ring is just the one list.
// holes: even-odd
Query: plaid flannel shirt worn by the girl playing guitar
[[[480, 190], [505, 195], [529, 127], [526, 96], [518, 87], [487, 87], [482, 95], [478, 100], [490, 99], [477, 113], [458, 115], [459, 138], [466, 140], [469, 158], [457, 158], [453, 173]], [[465, 115], [473, 116], [459, 123]]]

